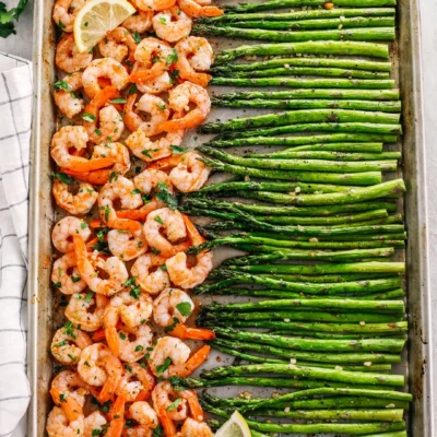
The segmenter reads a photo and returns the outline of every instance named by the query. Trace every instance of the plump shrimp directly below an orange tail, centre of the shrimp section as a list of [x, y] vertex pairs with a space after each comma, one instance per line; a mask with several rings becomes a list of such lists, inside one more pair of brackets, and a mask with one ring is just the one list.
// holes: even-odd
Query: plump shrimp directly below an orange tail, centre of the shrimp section
[[147, 250], [147, 243], [141, 228], [135, 232], [109, 231], [108, 246], [110, 252], [123, 261], [133, 260]]

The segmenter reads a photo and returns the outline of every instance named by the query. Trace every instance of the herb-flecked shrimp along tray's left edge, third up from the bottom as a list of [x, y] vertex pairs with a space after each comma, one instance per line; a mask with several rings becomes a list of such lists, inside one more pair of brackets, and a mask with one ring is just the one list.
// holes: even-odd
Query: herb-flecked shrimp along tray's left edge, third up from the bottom
[[92, 341], [86, 332], [63, 327], [56, 331], [50, 351], [54, 357], [63, 365], [75, 365], [81, 357], [82, 350], [90, 344]]

